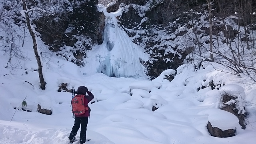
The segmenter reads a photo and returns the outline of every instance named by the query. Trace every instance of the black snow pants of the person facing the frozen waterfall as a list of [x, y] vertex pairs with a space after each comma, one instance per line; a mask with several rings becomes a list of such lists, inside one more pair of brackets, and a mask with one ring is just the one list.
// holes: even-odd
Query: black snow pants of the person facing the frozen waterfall
[[76, 139], [76, 133], [81, 125], [81, 131], [80, 131], [80, 144], [85, 143], [86, 140], [86, 127], [88, 124], [88, 117], [75, 117], [75, 123], [72, 128], [72, 131], [70, 132], [70, 135], [68, 136], [69, 140], [75, 140]]

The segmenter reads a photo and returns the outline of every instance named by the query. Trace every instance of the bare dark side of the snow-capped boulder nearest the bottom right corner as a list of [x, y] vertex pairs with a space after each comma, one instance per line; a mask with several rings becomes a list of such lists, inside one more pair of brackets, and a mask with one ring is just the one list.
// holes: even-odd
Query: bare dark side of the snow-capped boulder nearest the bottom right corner
[[211, 136], [215, 136], [218, 138], [227, 138], [227, 137], [236, 135], [236, 130], [228, 129], [223, 131], [220, 128], [212, 127], [212, 124], [209, 121], [206, 127], [208, 129], [208, 132], [211, 134]]

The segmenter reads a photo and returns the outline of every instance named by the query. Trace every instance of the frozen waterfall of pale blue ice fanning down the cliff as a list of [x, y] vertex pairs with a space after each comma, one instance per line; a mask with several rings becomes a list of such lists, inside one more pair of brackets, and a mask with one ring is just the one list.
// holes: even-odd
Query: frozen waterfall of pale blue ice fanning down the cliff
[[111, 77], [144, 77], [146, 68], [142, 61], [148, 60], [144, 50], [130, 40], [117, 24], [115, 16], [106, 15], [103, 44], [100, 46], [98, 72]]

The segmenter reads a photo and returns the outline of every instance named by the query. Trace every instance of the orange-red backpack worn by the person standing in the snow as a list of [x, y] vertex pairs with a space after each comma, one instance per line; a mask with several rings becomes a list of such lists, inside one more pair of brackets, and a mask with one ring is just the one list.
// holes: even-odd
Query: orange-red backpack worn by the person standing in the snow
[[88, 110], [88, 106], [84, 106], [84, 95], [78, 94], [71, 101], [72, 104], [72, 113], [79, 115], [84, 114]]

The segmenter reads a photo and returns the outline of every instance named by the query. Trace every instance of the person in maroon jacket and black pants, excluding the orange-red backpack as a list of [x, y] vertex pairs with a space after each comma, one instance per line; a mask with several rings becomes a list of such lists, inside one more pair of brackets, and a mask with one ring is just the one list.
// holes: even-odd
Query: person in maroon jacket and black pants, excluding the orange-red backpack
[[[86, 95], [86, 93], [88, 95]], [[85, 112], [83, 114], [74, 113], [75, 122], [74, 122], [74, 126], [73, 126], [72, 131], [70, 132], [70, 135], [68, 136], [68, 138], [70, 140], [70, 143], [75, 142], [76, 141], [75, 140], [76, 133], [77, 133], [77, 131], [80, 128], [80, 125], [81, 125], [80, 140], [79, 141], [80, 141], [80, 144], [84, 144], [85, 141], [86, 141], [86, 127], [87, 127], [87, 124], [88, 124], [88, 117], [90, 116], [90, 112], [88, 110], [88, 103], [94, 98], [94, 96], [90, 91], [88, 91], [88, 88], [86, 88], [85, 86], [79, 86], [78, 87], [77, 92], [76, 92], [76, 96], [74, 98], [76, 98], [79, 95], [84, 95], [84, 105], [83, 106], [84, 106]], [[72, 101], [73, 101], [73, 99], [72, 99]], [[72, 111], [73, 111], [73, 109], [72, 109]]]

